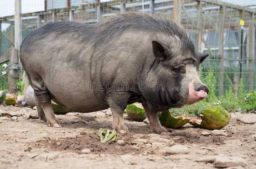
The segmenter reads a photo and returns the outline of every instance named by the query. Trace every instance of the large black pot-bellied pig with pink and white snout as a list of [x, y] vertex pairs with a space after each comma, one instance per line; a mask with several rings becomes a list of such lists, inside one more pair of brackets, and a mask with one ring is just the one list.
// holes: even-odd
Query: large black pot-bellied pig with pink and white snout
[[49, 23], [29, 34], [20, 57], [40, 119], [60, 127], [51, 99], [87, 113], [111, 108], [113, 129], [128, 131], [123, 113], [140, 102], [152, 131], [167, 132], [157, 112], [195, 103], [209, 89], [197, 73], [208, 54], [172, 20], [128, 12], [101, 23]]

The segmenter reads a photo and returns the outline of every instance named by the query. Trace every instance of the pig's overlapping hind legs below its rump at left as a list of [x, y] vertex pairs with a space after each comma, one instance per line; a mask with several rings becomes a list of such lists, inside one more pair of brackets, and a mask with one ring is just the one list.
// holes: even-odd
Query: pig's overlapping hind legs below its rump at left
[[32, 88], [34, 88], [34, 95], [37, 103], [38, 116], [47, 121], [52, 127], [61, 127], [57, 122], [52, 110], [52, 96], [50, 91], [44, 85], [44, 81], [40, 76], [29, 77]]

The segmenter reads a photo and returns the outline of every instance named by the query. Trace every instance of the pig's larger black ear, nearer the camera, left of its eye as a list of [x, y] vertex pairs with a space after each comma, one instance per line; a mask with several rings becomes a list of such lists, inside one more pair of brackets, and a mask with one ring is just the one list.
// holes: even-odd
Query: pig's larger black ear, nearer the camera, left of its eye
[[157, 40], [152, 41], [153, 53], [156, 58], [163, 61], [172, 55], [171, 49]]

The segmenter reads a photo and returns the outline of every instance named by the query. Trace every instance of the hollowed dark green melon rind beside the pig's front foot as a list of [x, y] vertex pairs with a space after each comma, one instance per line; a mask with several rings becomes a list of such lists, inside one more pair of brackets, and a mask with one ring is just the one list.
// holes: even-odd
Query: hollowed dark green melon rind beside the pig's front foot
[[159, 116], [159, 121], [162, 126], [178, 129], [187, 124], [190, 119], [184, 118], [183, 116], [174, 117], [170, 111], [163, 111]]

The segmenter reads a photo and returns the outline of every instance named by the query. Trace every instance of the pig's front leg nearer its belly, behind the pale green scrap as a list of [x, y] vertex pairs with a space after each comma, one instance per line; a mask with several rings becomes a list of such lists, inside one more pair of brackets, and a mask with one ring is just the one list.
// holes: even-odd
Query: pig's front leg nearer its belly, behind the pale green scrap
[[113, 116], [113, 130], [118, 133], [128, 132], [128, 128], [123, 121], [123, 114], [130, 96], [128, 92], [114, 92], [107, 96], [107, 102]]

